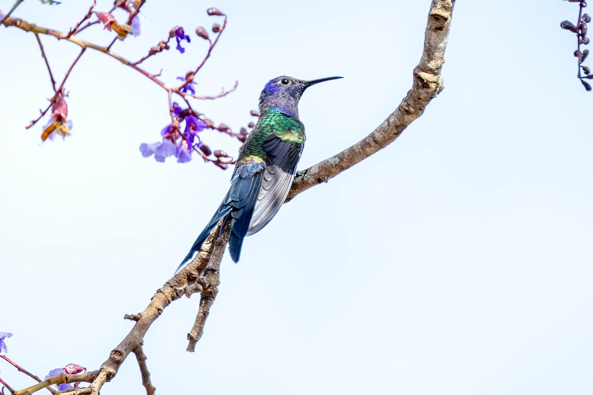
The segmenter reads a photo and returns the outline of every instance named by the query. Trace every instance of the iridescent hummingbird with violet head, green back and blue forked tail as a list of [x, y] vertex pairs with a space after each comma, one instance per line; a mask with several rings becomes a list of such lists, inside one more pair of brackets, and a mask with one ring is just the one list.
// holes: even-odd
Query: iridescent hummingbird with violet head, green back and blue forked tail
[[338, 78], [342, 77], [303, 81], [283, 75], [266, 84], [259, 97], [260, 117], [239, 150], [231, 188], [177, 271], [200, 251], [221, 219], [221, 231], [231, 222], [228, 251], [235, 263], [239, 261], [245, 236], [259, 232], [272, 220], [291, 189], [305, 146], [299, 99], [309, 86]]

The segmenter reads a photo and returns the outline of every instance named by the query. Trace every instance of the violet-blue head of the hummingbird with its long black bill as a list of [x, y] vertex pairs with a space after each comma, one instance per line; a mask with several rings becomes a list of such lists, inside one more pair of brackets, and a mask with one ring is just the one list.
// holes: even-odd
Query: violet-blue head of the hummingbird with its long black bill
[[286, 115], [298, 118], [298, 101], [305, 89], [311, 85], [318, 84], [319, 82], [330, 81], [331, 79], [337, 78], [342, 77], [327, 77], [312, 79], [311, 81], [303, 81], [301, 79], [282, 75], [271, 79], [263, 88], [262, 94], [260, 95], [260, 113], [275, 108]]

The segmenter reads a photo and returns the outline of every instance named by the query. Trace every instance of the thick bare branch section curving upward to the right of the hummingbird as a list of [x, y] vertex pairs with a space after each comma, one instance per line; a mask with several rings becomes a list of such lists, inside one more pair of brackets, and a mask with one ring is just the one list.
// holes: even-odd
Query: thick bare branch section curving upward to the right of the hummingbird
[[447, 47], [454, 4], [455, 0], [432, 1], [426, 24], [422, 59], [413, 71], [412, 89], [407, 92], [396, 110], [377, 129], [358, 143], [317, 165], [297, 172], [286, 201], [292, 200], [302, 191], [329, 181], [393, 143], [409, 124], [424, 113], [426, 105], [443, 89], [441, 67], [445, 63], [445, 47]]

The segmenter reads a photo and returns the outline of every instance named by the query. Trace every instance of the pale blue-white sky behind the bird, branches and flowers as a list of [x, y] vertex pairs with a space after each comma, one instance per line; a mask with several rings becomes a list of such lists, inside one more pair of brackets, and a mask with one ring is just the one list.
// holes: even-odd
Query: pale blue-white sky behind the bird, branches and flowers
[[[221, 20], [206, 8], [222, 9], [229, 26], [198, 92], [235, 79], [239, 88], [195, 107], [234, 129], [275, 76], [343, 76], [302, 98], [303, 169], [399, 104], [429, 4], [150, 0], [141, 36], [113, 49], [135, 60], [183, 26], [186, 53], [145, 64], [173, 83], [205, 53], [193, 30]], [[14, 16], [67, 30], [89, 5], [30, 0]], [[286, 204], [246, 240], [240, 264], [225, 256], [194, 354], [185, 349], [197, 295], [151, 327], [157, 393], [591, 394], [593, 92], [575, 77], [575, 36], [559, 28], [577, 14], [561, 0], [458, 1], [445, 90], [425, 114]], [[59, 78], [77, 47], [43, 42]], [[40, 146], [46, 120], [24, 130], [52, 95], [36, 40], [2, 27], [0, 53], [0, 331], [14, 333], [9, 357], [41, 377], [71, 362], [94, 370], [132, 327], [123, 315], [144, 310], [173, 274], [231, 170], [142, 158], [138, 146], [168, 122], [167, 95], [92, 50], [66, 85], [72, 136]], [[15, 388], [33, 384], [8, 364], [0, 371]], [[102, 391], [144, 392], [133, 356]]]

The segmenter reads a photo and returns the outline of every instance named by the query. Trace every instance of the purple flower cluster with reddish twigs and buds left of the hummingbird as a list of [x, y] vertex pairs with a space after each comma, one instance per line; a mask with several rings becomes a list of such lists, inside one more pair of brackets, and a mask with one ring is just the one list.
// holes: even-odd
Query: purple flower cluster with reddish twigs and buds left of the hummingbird
[[[41, 136], [42, 141], [44, 142], [47, 139], [53, 140], [54, 137], [58, 135], [62, 137], [69, 136], [72, 129], [72, 123], [68, 119], [68, 105], [64, 99], [66, 97], [64, 85], [68, 76], [71, 75], [72, 69], [84, 54], [85, 49], [93, 48], [99, 52], [114, 57], [124, 65], [135, 69], [137, 72], [146, 76], [151, 81], [155, 82], [161, 86], [161, 88], [165, 89], [165, 91], [167, 91], [170, 104], [169, 111], [171, 123], [161, 130], [161, 140], [159, 142], [141, 144], [140, 151], [143, 156], [147, 157], [154, 155], [154, 158], [158, 162], [164, 162], [166, 158], [174, 156], [177, 158], [177, 162], [186, 163], [192, 160], [192, 156], [199, 155], [203, 160], [205, 160], [205, 162], [212, 162], [222, 169], [228, 168], [228, 165], [234, 163], [233, 159], [223, 150], [211, 150], [210, 147], [202, 142], [202, 139], [199, 137], [199, 133], [205, 129], [218, 130], [221, 133], [228, 134], [231, 137], [236, 137], [240, 142], [244, 142], [247, 138], [247, 129], [242, 127], [238, 133], [234, 133], [231, 128], [224, 123], [220, 123], [218, 126], [215, 126], [215, 124], [203, 114], [197, 113], [197, 111], [193, 110], [192, 105], [189, 102], [190, 99], [211, 100], [221, 98], [237, 89], [237, 82], [235, 82], [235, 86], [233, 88], [227, 90], [223, 89], [219, 94], [196, 95], [197, 83], [194, 81], [195, 75], [200, 69], [202, 69], [202, 66], [205, 65], [206, 61], [211, 56], [214, 47], [218, 43], [222, 32], [227, 27], [227, 15], [217, 8], [207, 9], [206, 13], [208, 15], [211, 17], [224, 17], [224, 21], [222, 21], [221, 24], [213, 23], [211, 28], [212, 33], [209, 33], [205, 27], [196, 28], [195, 31], [197, 37], [208, 41], [208, 51], [206, 52], [203, 60], [197, 63], [193, 70], [187, 72], [185, 76], [180, 76], [177, 78], [179, 81], [181, 81], [177, 86], [170, 85], [165, 83], [165, 81], [162, 81], [160, 79], [161, 73], [149, 72], [140, 65], [149, 57], [155, 56], [164, 50], [169, 50], [170, 42], [176, 41], [176, 49], [178, 52], [182, 54], [185, 53], [186, 48], [183, 46], [183, 44], [191, 43], [192, 39], [190, 38], [189, 34], [186, 34], [186, 29], [181, 26], [173, 27], [173, 29], [169, 31], [168, 37], [166, 37], [164, 40], [161, 40], [157, 45], [151, 47], [148, 50], [148, 53], [141, 57], [141, 59], [136, 60], [136, 62], [131, 62], [130, 60], [124, 59], [119, 54], [113, 52], [111, 47], [113, 46], [115, 40], [113, 40], [109, 45], [97, 45], [78, 37], [78, 34], [81, 33], [81, 31], [95, 24], [102, 26], [108, 31], [113, 31], [117, 34], [117, 38], [120, 40], [124, 40], [130, 35], [137, 36], [140, 34], [140, 22], [138, 16], [144, 3], [145, 1], [143, 0], [114, 0], [113, 7], [111, 9], [100, 11], [95, 9], [97, 2], [93, 2], [82, 20], [76, 23], [74, 27], [70, 28], [68, 33], [62, 33], [52, 29], [35, 32], [38, 35], [47, 34], [50, 36], [55, 36], [59, 39], [76, 37], [76, 40], [78, 40], [76, 42], [81, 43], [82, 50], [74, 59], [72, 65], [68, 68], [65, 77], [62, 79], [62, 82], [59, 85], [56, 84], [56, 81], [53, 78], [53, 73], [49, 62], [46, 62], [47, 71], [49, 72], [50, 80], [54, 86], [54, 95], [50, 99], [50, 104], [47, 105], [47, 108], [40, 111], [41, 115], [39, 118], [31, 121], [26, 129], [33, 127], [47, 113], [50, 113], [50, 120], [43, 127], [43, 133]], [[121, 12], [121, 10], [125, 12], [123, 17], [120, 14], [117, 14], [117, 12]], [[4, 15], [0, 15], [0, 17], [4, 17]], [[95, 20], [93, 20], [93, 18], [95, 18]], [[42, 51], [42, 56], [44, 59], [47, 59], [44, 53], [43, 45], [40, 40], [38, 41]], [[56, 88], [56, 86], [59, 87]], [[181, 97], [181, 99], [183, 99], [183, 101], [187, 104], [187, 108], [180, 108], [177, 103], [172, 102], [173, 95], [178, 95]]]

